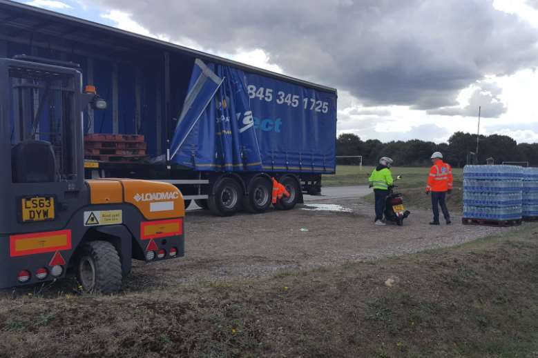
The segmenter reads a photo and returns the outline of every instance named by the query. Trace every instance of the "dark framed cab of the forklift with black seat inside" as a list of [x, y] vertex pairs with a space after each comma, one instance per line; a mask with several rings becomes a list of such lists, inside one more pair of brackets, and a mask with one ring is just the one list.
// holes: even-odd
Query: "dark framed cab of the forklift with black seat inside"
[[[0, 197], [17, 201], [32, 191], [78, 197], [84, 190], [82, 110], [93, 97], [82, 93], [73, 63], [0, 59]], [[6, 202], [4, 210], [0, 233], [26, 228], [17, 228], [21, 215]]]

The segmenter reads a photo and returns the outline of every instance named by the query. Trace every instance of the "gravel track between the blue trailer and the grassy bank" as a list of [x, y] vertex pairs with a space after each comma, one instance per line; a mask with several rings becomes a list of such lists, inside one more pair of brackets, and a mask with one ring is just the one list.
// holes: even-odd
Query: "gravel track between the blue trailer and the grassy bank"
[[149, 265], [135, 261], [126, 289], [262, 277], [454, 246], [514, 230], [464, 226], [459, 215], [453, 215], [450, 226], [430, 226], [426, 210], [414, 210], [403, 227], [380, 227], [373, 224], [371, 205], [361, 199], [316, 203], [339, 204], [351, 212], [303, 210], [307, 206], [302, 205], [224, 218], [203, 210], [189, 212], [186, 257]]

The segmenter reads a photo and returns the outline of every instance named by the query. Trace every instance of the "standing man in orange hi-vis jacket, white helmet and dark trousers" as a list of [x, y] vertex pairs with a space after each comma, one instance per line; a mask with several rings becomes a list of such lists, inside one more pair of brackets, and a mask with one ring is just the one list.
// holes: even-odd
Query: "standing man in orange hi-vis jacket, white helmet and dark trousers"
[[430, 176], [427, 177], [426, 194], [432, 192], [432, 210], [434, 212], [434, 221], [430, 225], [439, 225], [439, 206], [443, 210], [443, 216], [447, 225], [450, 224], [450, 214], [446, 207], [446, 193], [452, 192], [452, 167], [443, 162], [441, 152], [432, 154], [434, 165], [430, 169]]

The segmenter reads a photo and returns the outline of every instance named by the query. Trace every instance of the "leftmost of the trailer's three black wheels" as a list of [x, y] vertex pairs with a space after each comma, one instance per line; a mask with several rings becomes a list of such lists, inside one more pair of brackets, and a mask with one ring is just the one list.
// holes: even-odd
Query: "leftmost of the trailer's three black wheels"
[[232, 178], [224, 177], [213, 184], [214, 195], [207, 199], [207, 206], [214, 215], [229, 217], [234, 215], [241, 206], [241, 187]]

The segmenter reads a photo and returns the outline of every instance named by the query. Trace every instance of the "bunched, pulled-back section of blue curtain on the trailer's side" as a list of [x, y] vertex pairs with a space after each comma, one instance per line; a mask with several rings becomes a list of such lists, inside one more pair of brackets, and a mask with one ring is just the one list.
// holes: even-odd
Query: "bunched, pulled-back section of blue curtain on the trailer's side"
[[262, 170], [242, 71], [197, 59], [183, 108], [171, 141], [172, 163], [196, 170]]

